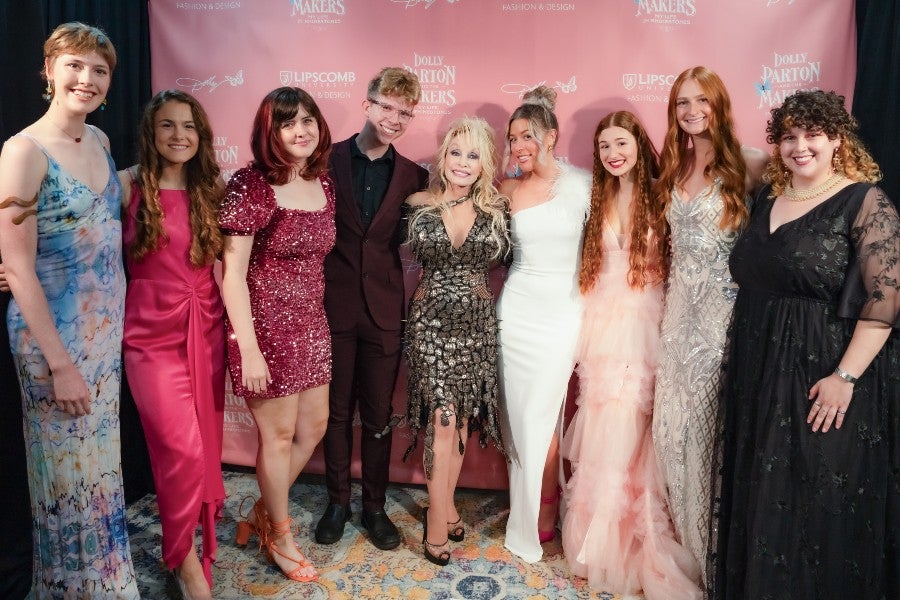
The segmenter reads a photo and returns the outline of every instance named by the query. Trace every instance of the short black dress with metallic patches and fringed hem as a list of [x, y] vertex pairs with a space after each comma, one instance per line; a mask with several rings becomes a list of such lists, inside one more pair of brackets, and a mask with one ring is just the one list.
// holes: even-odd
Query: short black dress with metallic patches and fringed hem
[[[410, 250], [422, 265], [422, 278], [410, 300], [405, 331], [409, 367], [407, 420], [413, 434], [425, 430], [425, 475], [431, 478], [434, 419], [449, 426], [456, 415], [459, 450], [479, 431], [482, 447], [492, 440], [500, 451], [497, 373], [497, 314], [488, 286], [488, 270], [497, 251], [491, 217], [477, 211], [459, 248], [453, 248], [438, 208], [412, 220]], [[476, 209], [477, 210], [477, 209]], [[505, 253], [502, 249], [501, 255]], [[462, 419], [468, 419], [463, 432]], [[404, 458], [406, 458], [404, 456]]]

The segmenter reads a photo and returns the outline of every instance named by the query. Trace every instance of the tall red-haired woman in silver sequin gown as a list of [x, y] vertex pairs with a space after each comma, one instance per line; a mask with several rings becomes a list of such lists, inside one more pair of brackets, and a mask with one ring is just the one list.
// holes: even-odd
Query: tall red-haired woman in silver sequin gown
[[[728, 92], [705, 67], [678, 76], [657, 192], [666, 196], [672, 264], [662, 322], [653, 444], [679, 541], [709, 568], [722, 358], [737, 286], [728, 256], [747, 218], [748, 172], [766, 155], [742, 149]], [[716, 148], [723, 148], [717, 152]], [[706, 585], [708, 581], [704, 581]]]

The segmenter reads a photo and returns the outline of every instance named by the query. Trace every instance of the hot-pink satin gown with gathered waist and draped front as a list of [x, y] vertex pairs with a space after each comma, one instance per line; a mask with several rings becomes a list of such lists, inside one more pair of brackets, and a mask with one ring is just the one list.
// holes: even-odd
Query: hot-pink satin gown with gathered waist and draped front
[[[134, 242], [141, 201], [135, 186], [123, 220], [126, 248]], [[212, 265], [190, 262], [187, 192], [160, 190], [160, 203], [168, 241], [142, 260], [126, 251], [125, 372], [150, 452], [163, 560], [170, 569], [184, 561], [199, 523], [203, 571], [212, 585], [215, 522], [225, 501], [224, 306]]]

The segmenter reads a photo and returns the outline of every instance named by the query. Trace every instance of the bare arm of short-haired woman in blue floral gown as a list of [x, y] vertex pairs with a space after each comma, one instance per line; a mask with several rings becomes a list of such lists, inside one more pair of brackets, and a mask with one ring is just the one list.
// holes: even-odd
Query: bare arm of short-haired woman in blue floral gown
[[90, 393], [50, 314], [35, 271], [37, 193], [47, 161], [30, 141], [13, 138], [0, 154], [0, 254], [16, 304], [53, 378], [55, 401], [71, 415], [91, 412]]

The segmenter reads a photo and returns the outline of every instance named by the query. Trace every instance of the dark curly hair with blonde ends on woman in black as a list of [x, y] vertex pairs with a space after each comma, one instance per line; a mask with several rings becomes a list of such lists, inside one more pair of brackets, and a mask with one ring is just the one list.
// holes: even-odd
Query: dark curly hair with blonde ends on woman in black
[[789, 183], [790, 171], [781, 160], [778, 145], [793, 127], [821, 131], [830, 140], [840, 138], [841, 145], [835, 154], [842, 174], [848, 179], [868, 183], [881, 179], [878, 164], [857, 135], [859, 123], [844, 108], [844, 97], [836, 92], [804, 90], [791, 94], [781, 106], [773, 108], [772, 117], [766, 124], [766, 141], [775, 146], [764, 176], [772, 184], [770, 197], [782, 194]]

